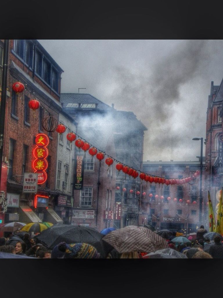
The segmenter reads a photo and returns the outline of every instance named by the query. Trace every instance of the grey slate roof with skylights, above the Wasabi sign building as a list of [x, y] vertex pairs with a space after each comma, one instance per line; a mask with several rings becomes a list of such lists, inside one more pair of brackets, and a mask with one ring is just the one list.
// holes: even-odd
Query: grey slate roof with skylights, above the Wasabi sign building
[[67, 107], [68, 103], [96, 103], [98, 109], [113, 109], [106, 103], [103, 103], [102, 101], [88, 93], [61, 93], [60, 102], [63, 103], [64, 108]]

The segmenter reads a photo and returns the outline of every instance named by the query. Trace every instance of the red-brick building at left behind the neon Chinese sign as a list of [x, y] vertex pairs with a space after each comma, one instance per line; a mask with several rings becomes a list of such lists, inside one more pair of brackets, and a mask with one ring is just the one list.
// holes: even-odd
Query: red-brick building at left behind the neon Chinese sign
[[[4, 40], [0, 41], [0, 49]], [[3, 166], [7, 167], [7, 212], [0, 212], [4, 221], [61, 221], [53, 210], [56, 182], [56, 150], [58, 134], [47, 132], [42, 120], [52, 115], [57, 121], [62, 106], [60, 82], [63, 70], [36, 40], [9, 40], [7, 100], [5, 109]], [[22, 93], [15, 93], [12, 85], [21, 82], [25, 86]], [[31, 99], [40, 102], [40, 108], [32, 110], [28, 106]], [[38, 184], [37, 195], [45, 197], [45, 206], [34, 208], [34, 193], [23, 192], [24, 173], [33, 173], [32, 151], [35, 136], [48, 135], [48, 179]], [[5, 172], [4, 172], [5, 173]], [[4, 177], [2, 177], [4, 179]], [[38, 197], [38, 200], [39, 200]], [[37, 198], [36, 198], [37, 199]]]

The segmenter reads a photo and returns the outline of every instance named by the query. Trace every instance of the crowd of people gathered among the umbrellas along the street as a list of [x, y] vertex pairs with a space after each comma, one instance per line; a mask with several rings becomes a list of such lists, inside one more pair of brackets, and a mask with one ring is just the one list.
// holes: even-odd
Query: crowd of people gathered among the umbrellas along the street
[[[186, 255], [187, 258], [223, 258], [222, 238], [219, 235], [214, 240], [204, 238], [207, 231], [204, 226], [197, 230], [196, 238], [189, 236], [188, 242], [177, 243], [172, 240], [176, 237], [183, 236], [179, 232], [172, 232], [172, 235], [166, 239], [170, 249]], [[61, 242], [48, 249], [41, 243], [37, 243], [35, 236], [29, 233], [10, 234], [7, 238], [0, 238], [0, 252], [10, 254], [24, 255], [41, 259], [59, 259], [59, 258], [100, 258], [97, 249], [87, 243], [65, 243]], [[106, 258], [144, 258], [145, 252], [125, 252], [118, 253], [115, 249], [108, 253]], [[148, 258], [148, 257], [147, 257]]]

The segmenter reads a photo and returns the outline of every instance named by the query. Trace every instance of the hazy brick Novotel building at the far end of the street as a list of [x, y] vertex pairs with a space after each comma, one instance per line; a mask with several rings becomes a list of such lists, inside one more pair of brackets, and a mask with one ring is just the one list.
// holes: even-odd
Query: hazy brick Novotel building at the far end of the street
[[[197, 170], [200, 170], [200, 160], [143, 162], [144, 173], [166, 179], [183, 179], [192, 176]], [[146, 182], [143, 181], [142, 191], [146, 195], [142, 200], [142, 209], [144, 209], [145, 214], [148, 214], [148, 218], [145, 217], [145, 223], [151, 224], [157, 230], [196, 232], [199, 226], [199, 181], [200, 179], [197, 177], [195, 181], [181, 185], [152, 182], [148, 183], [147, 186]], [[152, 197], [149, 196], [150, 194]], [[161, 196], [163, 197], [161, 198]], [[180, 202], [180, 199], [183, 201]], [[190, 202], [187, 203], [187, 200]]]

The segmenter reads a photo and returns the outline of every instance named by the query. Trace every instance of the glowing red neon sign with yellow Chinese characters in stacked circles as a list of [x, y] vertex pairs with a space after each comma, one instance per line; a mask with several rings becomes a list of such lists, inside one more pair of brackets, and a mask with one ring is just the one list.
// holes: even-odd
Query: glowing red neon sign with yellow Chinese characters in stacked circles
[[46, 160], [48, 156], [49, 138], [46, 134], [37, 134], [35, 138], [36, 146], [33, 150], [33, 156], [35, 158], [32, 163], [34, 173], [38, 174], [37, 184], [43, 184], [47, 180], [47, 173], [45, 170], [48, 168], [48, 162]]

